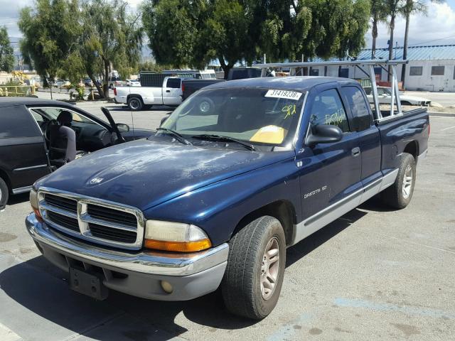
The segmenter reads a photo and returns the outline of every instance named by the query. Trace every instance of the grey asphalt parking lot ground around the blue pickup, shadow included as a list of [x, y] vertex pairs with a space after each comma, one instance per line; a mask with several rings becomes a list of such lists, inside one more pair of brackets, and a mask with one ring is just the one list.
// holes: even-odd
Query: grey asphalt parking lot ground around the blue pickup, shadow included
[[289, 248], [281, 298], [259, 322], [229, 315], [219, 293], [70, 291], [26, 233], [27, 195], [12, 197], [0, 213], [0, 340], [455, 340], [455, 119], [431, 124], [411, 204], [373, 198]]

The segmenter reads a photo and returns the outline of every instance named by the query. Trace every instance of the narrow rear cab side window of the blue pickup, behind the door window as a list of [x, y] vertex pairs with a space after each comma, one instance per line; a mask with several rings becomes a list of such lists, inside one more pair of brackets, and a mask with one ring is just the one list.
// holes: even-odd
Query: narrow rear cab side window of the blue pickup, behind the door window
[[358, 87], [343, 87], [341, 92], [346, 97], [353, 113], [353, 129], [355, 131], [363, 131], [370, 128], [371, 117], [368, 111], [368, 104], [360, 89]]

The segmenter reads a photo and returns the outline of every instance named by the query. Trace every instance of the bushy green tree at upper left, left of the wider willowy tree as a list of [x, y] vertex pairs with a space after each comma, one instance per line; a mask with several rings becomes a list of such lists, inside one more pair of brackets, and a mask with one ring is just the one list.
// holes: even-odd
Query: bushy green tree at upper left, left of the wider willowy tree
[[36, 0], [36, 8], [21, 9], [18, 26], [23, 33], [21, 52], [32, 63], [45, 85], [54, 79], [62, 61], [78, 48], [82, 27], [77, 0]]

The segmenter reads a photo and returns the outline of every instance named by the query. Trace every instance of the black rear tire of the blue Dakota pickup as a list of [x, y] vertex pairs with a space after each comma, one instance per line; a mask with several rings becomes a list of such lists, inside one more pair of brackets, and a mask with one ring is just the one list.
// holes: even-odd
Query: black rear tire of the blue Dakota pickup
[[[416, 176], [415, 166], [414, 156], [408, 153], [402, 153], [400, 168], [398, 168], [395, 183], [381, 193], [382, 201], [386, 205], [395, 207], [399, 210], [409, 205], [412, 199], [412, 193], [414, 193]], [[409, 179], [409, 175], [412, 175], [412, 179]], [[407, 178], [407, 180], [405, 178]], [[407, 195], [404, 188], [405, 181], [408, 187]]]

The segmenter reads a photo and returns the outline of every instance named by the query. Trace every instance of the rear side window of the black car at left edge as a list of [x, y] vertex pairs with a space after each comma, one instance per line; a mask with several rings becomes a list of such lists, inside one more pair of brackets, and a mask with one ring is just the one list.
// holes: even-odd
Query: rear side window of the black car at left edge
[[0, 108], [0, 139], [41, 136], [36, 122], [26, 107]]

